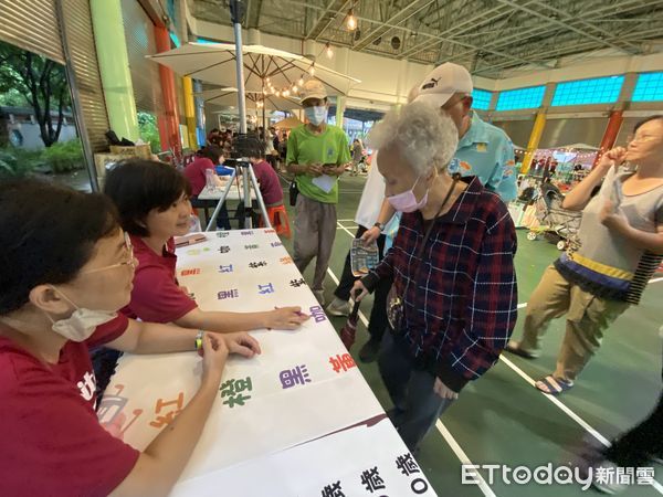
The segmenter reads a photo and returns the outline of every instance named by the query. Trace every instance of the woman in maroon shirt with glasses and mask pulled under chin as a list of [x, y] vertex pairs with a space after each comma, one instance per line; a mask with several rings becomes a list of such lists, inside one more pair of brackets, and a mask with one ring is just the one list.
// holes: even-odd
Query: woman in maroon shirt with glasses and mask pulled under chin
[[198, 330], [116, 314], [129, 302], [136, 261], [109, 200], [34, 180], [0, 183], [0, 495], [168, 494], [229, 351], [252, 357], [255, 339], [203, 335], [200, 389], [140, 453], [98, 423], [88, 348], [193, 350]]

